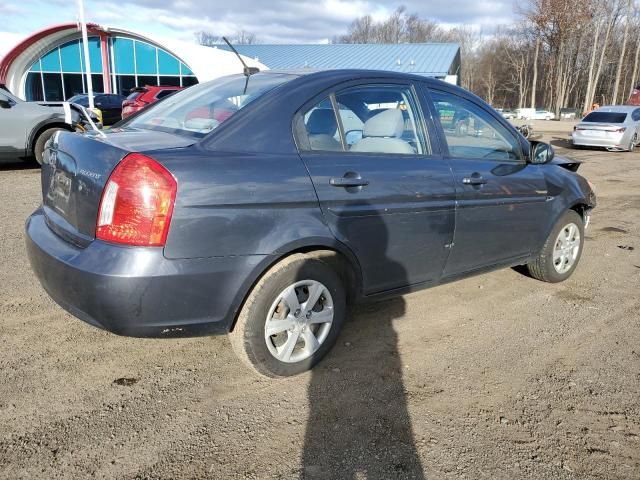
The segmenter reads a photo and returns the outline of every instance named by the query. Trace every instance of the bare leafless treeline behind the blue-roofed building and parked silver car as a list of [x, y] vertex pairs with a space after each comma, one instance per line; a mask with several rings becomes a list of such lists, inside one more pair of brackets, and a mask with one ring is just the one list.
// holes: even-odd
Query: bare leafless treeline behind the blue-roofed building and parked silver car
[[640, 6], [633, 0], [527, 0], [519, 22], [485, 35], [444, 29], [398, 8], [353, 21], [335, 43], [455, 42], [463, 87], [507, 108], [624, 103], [640, 83]]

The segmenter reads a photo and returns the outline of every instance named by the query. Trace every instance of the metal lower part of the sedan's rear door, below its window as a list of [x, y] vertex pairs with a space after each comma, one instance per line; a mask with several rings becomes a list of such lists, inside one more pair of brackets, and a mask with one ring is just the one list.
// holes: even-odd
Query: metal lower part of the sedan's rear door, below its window
[[[341, 153], [302, 158], [331, 231], [360, 261], [366, 294], [440, 278], [454, 227], [455, 192], [445, 160]], [[331, 185], [349, 172], [368, 185]]]

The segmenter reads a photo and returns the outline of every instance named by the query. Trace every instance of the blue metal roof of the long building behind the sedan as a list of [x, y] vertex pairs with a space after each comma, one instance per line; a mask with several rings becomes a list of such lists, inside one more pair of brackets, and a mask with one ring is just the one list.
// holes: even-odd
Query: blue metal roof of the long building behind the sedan
[[[271, 69], [364, 68], [430, 77], [457, 74], [460, 47], [454, 43], [234, 45]], [[229, 50], [226, 45], [218, 48]], [[453, 71], [452, 71], [453, 67]]]

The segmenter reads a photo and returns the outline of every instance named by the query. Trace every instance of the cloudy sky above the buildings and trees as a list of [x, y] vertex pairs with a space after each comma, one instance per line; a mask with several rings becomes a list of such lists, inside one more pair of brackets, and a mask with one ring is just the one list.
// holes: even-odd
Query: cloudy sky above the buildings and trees
[[[445, 26], [492, 31], [515, 18], [516, 0], [85, 0], [87, 20], [139, 33], [193, 41], [205, 30], [254, 33], [261, 43], [320, 43], [346, 33], [351, 21], [388, 16], [399, 5]], [[0, 0], [0, 56], [47, 25], [75, 21], [76, 0]]]

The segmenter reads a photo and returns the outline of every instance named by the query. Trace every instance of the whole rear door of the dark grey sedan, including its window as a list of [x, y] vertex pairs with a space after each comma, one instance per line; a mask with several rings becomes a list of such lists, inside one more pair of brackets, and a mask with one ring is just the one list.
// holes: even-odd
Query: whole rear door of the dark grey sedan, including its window
[[432, 153], [413, 89], [350, 87], [299, 120], [301, 158], [327, 224], [360, 262], [364, 293], [437, 281], [453, 236], [455, 188], [448, 162]]

